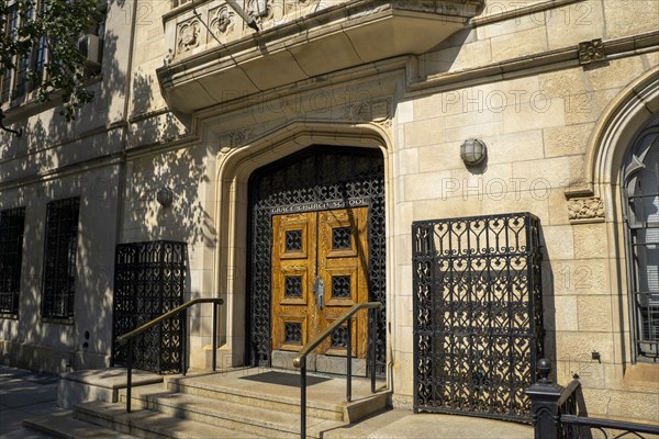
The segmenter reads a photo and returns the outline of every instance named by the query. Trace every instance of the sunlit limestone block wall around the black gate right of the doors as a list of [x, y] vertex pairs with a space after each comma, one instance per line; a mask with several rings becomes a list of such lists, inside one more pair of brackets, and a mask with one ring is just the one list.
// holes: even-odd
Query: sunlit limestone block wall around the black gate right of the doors
[[[394, 215], [404, 221], [394, 232], [395, 291], [396, 303], [409, 305], [396, 308], [394, 401], [409, 405], [413, 394], [411, 221], [528, 211], [541, 222], [546, 346], [559, 383], [579, 373], [591, 413], [656, 421], [659, 367], [635, 365], [630, 353], [616, 183], [595, 188], [594, 200], [570, 193], [592, 183], [589, 145], [612, 116], [613, 102], [657, 70], [657, 46], [589, 66], [567, 61], [534, 68], [532, 58], [582, 41], [654, 32], [659, 5], [543, 4], [526, 2], [496, 21], [514, 5], [489, 1], [473, 29], [420, 57], [424, 87], [396, 104]], [[488, 70], [513, 61], [527, 64], [510, 74]], [[656, 111], [649, 109], [647, 119]], [[488, 145], [483, 169], [467, 169], [460, 159], [459, 145], [471, 137]], [[576, 221], [570, 212], [587, 202], [597, 209]], [[592, 352], [600, 353], [599, 361]]]

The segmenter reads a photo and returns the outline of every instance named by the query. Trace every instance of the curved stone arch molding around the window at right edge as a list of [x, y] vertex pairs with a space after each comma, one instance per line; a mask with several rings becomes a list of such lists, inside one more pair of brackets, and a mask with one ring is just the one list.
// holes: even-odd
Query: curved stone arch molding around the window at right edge
[[[659, 68], [637, 78], [608, 104], [593, 128], [584, 156], [583, 184], [568, 188], [568, 210], [572, 224], [605, 222], [606, 254], [617, 267], [610, 271], [615, 306], [613, 330], [618, 334], [619, 357], [628, 364], [633, 359], [629, 335], [628, 286], [625, 230], [621, 196], [621, 172], [629, 147], [639, 131], [659, 113]], [[622, 372], [622, 371], [621, 371]]]

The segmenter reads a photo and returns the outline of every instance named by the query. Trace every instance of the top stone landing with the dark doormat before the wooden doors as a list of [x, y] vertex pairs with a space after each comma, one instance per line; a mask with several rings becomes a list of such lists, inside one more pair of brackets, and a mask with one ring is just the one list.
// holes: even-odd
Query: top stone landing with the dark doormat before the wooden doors
[[[261, 371], [263, 372], [263, 371]], [[258, 376], [258, 369], [227, 373], [201, 373], [188, 376], [169, 376], [165, 387], [171, 392], [203, 396], [237, 403], [244, 406], [267, 407], [278, 412], [300, 413], [299, 374], [277, 373], [270, 382]], [[253, 378], [256, 376], [256, 380]], [[286, 382], [287, 384], [281, 384]], [[384, 409], [390, 392], [370, 392], [370, 380], [353, 379], [353, 401], [346, 402], [346, 379], [308, 376], [306, 414], [311, 417], [355, 423]], [[291, 385], [295, 384], [295, 385]], [[125, 393], [123, 393], [125, 394]]]

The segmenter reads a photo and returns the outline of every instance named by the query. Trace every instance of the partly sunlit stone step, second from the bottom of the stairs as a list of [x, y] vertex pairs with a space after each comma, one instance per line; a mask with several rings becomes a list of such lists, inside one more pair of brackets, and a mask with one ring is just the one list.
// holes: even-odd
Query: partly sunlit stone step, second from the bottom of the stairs
[[126, 413], [120, 404], [104, 402], [83, 403], [76, 407], [76, 418], [137, 438], [175, 439], [256, 439], [261, 436], [225, 427], [183, 419], [148, 409]]

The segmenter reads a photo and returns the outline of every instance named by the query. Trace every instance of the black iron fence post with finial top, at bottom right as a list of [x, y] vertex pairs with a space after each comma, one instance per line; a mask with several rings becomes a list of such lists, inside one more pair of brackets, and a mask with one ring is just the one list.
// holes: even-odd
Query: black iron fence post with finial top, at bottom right
[[549, 380], [551, 362], [541, 359], [538, 362], [540, 379], [526, 390], [535, 439], [562, 439], [559, 437], [558, 401], [563, 387]]

